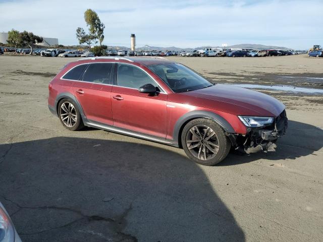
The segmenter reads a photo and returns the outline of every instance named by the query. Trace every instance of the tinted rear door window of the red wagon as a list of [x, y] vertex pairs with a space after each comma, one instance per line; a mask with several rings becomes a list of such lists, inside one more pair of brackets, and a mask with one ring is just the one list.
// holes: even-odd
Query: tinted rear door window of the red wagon
[[83, 74], [82, 81], [111, 84], [112, 63], [92, 63]]

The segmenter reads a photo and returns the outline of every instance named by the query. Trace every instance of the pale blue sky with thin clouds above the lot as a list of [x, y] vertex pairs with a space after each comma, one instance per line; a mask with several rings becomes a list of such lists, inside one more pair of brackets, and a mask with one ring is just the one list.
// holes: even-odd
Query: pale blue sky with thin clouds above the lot
[[137, 47], [323, 45], [323, 0], [0, 0], [0, 32], [26, 30], [78, 44], [76, 28], [87, 31], [86, 9], [105, 24], [106, 45], [130, 47], [132, 33]]

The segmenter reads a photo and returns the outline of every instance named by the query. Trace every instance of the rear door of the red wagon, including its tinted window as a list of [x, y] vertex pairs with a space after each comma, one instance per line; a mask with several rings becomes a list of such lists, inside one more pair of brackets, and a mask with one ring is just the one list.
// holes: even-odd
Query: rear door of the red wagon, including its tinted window
[[113, 63], [91, 63], [73, 91], [89, 122], [113, 125], [111, 89]]

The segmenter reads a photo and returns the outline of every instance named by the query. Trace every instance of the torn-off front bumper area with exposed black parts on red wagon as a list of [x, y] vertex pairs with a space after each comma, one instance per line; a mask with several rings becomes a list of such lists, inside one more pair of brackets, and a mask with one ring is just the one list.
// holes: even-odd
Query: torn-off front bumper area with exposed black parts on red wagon
[[245, 135], [230, 135], [232, 144], [238, 151], [256, 153], [259, 151], [275, 151], [279, 137], [286, 133], [288, 118], [284, 110], [274, 119], [270, 126], [260, 128], [247, 128]]

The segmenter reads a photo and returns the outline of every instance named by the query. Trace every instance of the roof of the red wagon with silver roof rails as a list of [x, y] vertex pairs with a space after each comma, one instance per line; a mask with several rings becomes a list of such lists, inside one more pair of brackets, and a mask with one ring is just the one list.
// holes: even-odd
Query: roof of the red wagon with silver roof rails
[[143, 66], [149, 66], [149, 65], [156, 65], [156, 64], [165, 64], [165, 63], [175, 63], [170, 61], [167, 58], [164, 57], [114, 57], [114, 56], [106, 56], [106, 57], [89, 57], [89, 58], [82, 58], [79, 59], [79, 61], [85, 61], [85, 60], [98, 60], [98, 61], [120, 61], [121, 63], [137, 63]]

